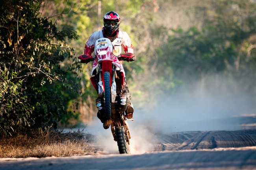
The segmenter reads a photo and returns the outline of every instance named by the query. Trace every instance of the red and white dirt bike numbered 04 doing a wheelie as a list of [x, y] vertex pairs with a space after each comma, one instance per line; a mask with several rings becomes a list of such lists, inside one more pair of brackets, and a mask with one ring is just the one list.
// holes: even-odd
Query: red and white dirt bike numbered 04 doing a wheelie
[[[100, 38], [95, 42], [95, 57], [80, 55], [79, 63], [93, 61], [91, 83], [98, 93], [96, 106], [106, 118], [106, 125], [111, 125], [114, 140], [117, 141], [119, 153], [130, 153], [130, 131], [125, 111], [128, 107], [129, 95], [123, 91], [124, 72], [119, 61], [134, 61], [132, 53], [113, 55], [113, 45], [108, 38]], [[98, 72], [96, 73], [96, 68]]]

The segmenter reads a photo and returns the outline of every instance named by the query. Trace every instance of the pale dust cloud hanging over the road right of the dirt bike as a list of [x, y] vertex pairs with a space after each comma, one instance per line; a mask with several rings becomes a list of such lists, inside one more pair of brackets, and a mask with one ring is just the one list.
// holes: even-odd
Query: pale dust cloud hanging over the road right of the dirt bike
[[155, 133], [238, 130], [239, 116], [256, 113], [255, 101], [237, 81], [207, 76], [159, 97], [158, 105], [138, 114], [138, 119], [146, 118], [145, 124]]

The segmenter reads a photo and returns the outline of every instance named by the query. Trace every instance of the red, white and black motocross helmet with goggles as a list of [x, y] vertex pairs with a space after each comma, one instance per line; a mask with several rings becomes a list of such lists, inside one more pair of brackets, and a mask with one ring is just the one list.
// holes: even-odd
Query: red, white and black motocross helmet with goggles
[[109, 35], [113, 35], [119, 28], [120, 17], [116, 12], [110, 11], [103, 17], [103, 22], [104, 29]]

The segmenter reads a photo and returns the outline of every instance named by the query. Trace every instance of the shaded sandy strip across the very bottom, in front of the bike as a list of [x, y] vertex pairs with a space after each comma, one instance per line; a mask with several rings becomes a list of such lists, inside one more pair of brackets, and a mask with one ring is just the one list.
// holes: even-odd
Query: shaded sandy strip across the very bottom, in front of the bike
[[3, 170], [236, 170], [256, 169], [256, 147], [183, 150], [138, 155], [1, 159]]

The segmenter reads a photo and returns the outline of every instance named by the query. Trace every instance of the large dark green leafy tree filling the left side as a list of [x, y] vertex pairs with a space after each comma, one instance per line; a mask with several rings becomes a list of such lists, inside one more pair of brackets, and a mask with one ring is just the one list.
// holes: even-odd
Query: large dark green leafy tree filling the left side
[[27, 127], [56, 126], [68, 114], [58, 85], [77, 91], [77, 84], [65, 79], [67, 71], [75, 71], [76, 66], [63, 70], [59, 64], [74, 57], [74, 48], [65, 40], [78, 36], [70, 29], [58, 31], [52, 21], [41, 18], [42, 2], [1, 2], [0, 130], [5, 135]]

